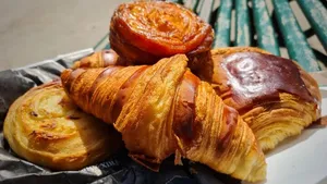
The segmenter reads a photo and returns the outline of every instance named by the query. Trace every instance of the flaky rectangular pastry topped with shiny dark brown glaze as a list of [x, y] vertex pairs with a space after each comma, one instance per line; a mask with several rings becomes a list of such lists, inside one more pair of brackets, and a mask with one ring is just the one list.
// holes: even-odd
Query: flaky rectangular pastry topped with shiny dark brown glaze
[[292, 60], [249, 47], [211, 50], [198, 75], [237, 109], [263, 150], [298, 135], [320, 116], [315, 79]]

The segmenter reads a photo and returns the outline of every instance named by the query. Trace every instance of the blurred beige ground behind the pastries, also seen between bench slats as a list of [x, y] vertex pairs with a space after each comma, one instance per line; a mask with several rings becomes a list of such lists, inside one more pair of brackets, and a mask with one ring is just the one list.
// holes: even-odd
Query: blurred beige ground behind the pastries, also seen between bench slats
[[[0, 71], [93, 48], [99, 44], [105, 47], [114, 9], [118, 4], [129, 1], [131, 0], [1, 0]], [[216, 0], [215, 7], [219, 3], [220, 1]], [[266, 0], [266, 3], [271, 14], [271, 1]], [[310, 24], [296, 1], [290, 2], [290, 5], [302, 30], [308, 29]], [[235, 29], [234, 16], [233, 10], [232, 40]], [[101, 39], [104, 41], [100, 41]], [[308, 38], [308, 44], [326, 56], [316, 35]], [[282, 57], [288, 57], [286, 49], [280, 50]]]

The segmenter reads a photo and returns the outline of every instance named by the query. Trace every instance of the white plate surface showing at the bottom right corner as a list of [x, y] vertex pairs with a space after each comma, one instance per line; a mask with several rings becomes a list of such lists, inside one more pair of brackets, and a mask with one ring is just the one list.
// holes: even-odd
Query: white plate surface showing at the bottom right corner
[[[327, 115], [327, 87], [320, 89], [322, 114]], [[304, 130], [268, 152], [266, 161], [267, 179], [257, 184], [327, 184], [327, 127]]]

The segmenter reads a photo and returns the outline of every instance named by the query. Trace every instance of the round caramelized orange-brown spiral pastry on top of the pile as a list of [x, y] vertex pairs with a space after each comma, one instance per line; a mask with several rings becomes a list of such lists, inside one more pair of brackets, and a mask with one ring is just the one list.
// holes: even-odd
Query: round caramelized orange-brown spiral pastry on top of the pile
[[177, 53], [193, 59], [208, 52], [214, 30], [177, 3], [135, 1], [123, 3], [114, 11], [109, 39], [128, 65], [154, 64]]

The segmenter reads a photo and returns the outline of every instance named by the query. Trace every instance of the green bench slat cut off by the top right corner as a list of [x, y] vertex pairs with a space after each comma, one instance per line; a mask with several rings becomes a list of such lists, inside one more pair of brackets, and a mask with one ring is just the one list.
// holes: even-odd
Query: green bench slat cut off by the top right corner
[[327, 10], [319, 0], [298, 0], [306, 19], [327, 50]]

